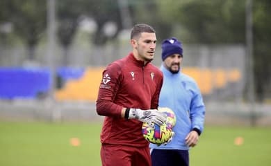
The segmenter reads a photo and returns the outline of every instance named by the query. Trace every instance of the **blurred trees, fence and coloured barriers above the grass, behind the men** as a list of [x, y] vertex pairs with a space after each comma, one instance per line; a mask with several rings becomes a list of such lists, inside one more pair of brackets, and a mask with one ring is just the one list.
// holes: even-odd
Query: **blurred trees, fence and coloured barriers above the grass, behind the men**
[[0, 118], [99, 119], [101, 72], [129, 53], [137, 23], [183, 43], [182, 71], [207, 124], [271, 126], [269, 0], [1, 0]]

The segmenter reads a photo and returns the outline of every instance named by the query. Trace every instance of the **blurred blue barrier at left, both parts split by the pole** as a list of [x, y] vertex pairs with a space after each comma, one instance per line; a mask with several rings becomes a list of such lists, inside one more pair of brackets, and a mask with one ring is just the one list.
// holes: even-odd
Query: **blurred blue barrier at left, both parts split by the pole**
[[[56, 71], [59, 84], [83, 76], [85, 68], [60, 67]], [[49, 93], [52, 86], [49, 68], [0, 67], [0, 99], [37, 98]]]

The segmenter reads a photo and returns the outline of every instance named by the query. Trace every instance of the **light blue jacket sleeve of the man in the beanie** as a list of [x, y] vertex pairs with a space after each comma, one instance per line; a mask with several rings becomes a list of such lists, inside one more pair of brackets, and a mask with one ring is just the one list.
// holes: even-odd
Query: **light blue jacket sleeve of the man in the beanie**
[[200, 132], [204, 129], [205, 106], [197, 84], [194, 84], [195, 91], [190, 104], [190, 118], [192, 129], [199, 129]]

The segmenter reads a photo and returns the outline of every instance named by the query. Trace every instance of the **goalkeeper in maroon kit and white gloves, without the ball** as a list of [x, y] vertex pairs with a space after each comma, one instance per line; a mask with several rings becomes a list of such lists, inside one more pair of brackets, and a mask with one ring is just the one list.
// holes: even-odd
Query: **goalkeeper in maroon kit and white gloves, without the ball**
[[151, 64], [156, 48], [154, 28], [136, 24], [130, 43], [133, 51], [106, 67], [99, 86], [97, 113], [105, 116], [101, 129], [103, 166], [151, 166], [142, 122], [161, 125], [166, 120], [166, 115], [156, 110], [163, 74]]

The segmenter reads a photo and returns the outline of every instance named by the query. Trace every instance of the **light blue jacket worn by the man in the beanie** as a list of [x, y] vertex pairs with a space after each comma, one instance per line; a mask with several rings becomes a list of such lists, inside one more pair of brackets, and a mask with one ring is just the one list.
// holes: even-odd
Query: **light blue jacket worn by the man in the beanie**
[[163, 72], [163, 86], [159, 98], [159, 107], [169, 107], [174, 111], [176, 124], [173, 127], [175, 133], [172, 142], [157, 147], [156, 149], [181, 149], [188, 150], [186, 136], [193, 129], [204, 129], [205, 106], [202, 95], [195, 80], [181, 73], [172, 74], [161, 66]]

